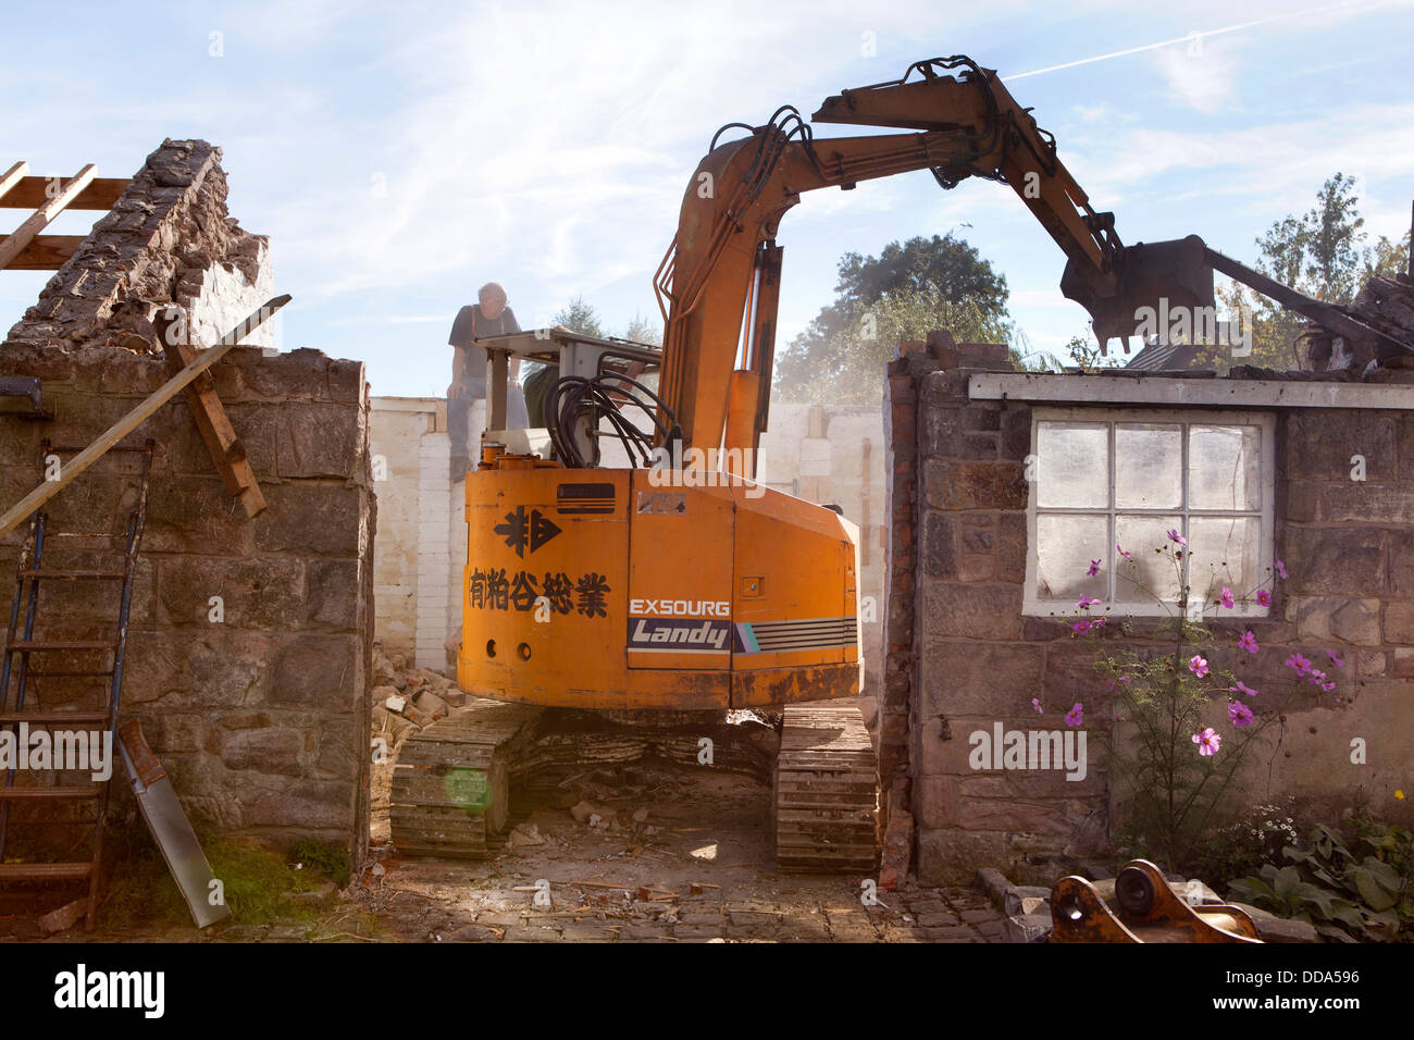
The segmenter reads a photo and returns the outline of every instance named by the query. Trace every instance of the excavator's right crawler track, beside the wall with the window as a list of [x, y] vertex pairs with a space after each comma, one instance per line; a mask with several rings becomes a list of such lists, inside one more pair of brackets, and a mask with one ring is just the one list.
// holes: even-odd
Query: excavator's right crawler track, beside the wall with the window
[[853, 702], [788, 705], [772, 782], [776, 866], [874, 873], [878, 758]]

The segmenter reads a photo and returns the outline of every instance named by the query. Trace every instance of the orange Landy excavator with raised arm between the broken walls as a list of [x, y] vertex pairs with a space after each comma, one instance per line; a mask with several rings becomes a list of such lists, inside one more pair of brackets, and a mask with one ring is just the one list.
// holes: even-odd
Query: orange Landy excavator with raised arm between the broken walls
[[[546, 709], [629, 724], [768, 709], [782, 717], [778, 863], [874, 869], [877, 763], [855, 703], [840, 700], [860, 691], [855, 531], [754, 480], [781, 284], [775, 235], [802, 192], [912, 170], [945, 188], [967, 177], [1011, 187], [1065, 253], [1062, 291], [1090, 313], [1102, 345], [1133, 334], [1135, 311], [1159, 297], [1171, 310], [1212, 306], [1202, 250], [1121, 245], [1053, 139], [969, 58], [844, 91], [813, 119], [908, 133], [816, 139], [789, 106], [764, 126], [718, 130], [655, 276], [660, 351], [564, 328], [479, 341], [491, 416], [465, 481], [457, 664], [458, 686], [479, 699], [404, 743], [392, 799], [403, 850], [488, 855], [529, 761], [546, 761], [550, 744], [563, 765], [590, 756], [588, 740], [547, 743]], [[720, 141], [732, 129], [747, 133]], [[510, 358], [560, 366], [544, 430], [502, 429]], [[655, 371], [656, 391], [643, 382]]]

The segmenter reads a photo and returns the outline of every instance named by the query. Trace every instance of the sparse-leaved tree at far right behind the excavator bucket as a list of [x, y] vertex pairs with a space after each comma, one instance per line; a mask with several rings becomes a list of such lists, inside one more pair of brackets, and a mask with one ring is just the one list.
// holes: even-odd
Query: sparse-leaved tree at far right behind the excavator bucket
[[[1381, 235], [1373, 246], [1366, 239], [1355, 194], [1355, 178], [1336, 173], [1316, 191], [1316, 204], [1302, 216], [1288, 214], [1274, 221], [1257, 239], [1257, 270], [1282, 284], [1328, 303], [1349, 304], [1360, 286], [1380, 275], [1404, 270], [1408, 232], [1400, 242]], [[1217, 289], [1229, 314], [1251, 314], [1253, 352], [1243, 364], [1264, 368], [1299, 368], [1298, 340], [1305, 318], [1278, 303], [1232, 282]]]

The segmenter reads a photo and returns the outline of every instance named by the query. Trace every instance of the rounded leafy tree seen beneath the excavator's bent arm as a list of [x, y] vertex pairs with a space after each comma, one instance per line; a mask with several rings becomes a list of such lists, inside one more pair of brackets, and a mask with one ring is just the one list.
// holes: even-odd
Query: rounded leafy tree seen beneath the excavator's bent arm
[[966, 241], [891, 242], [840, 258], [836, 299], [776, 357], [786, 400], [874, 403], [899, 340], [946, 328], [959, 342], [1008, 342], [1007, 279]]

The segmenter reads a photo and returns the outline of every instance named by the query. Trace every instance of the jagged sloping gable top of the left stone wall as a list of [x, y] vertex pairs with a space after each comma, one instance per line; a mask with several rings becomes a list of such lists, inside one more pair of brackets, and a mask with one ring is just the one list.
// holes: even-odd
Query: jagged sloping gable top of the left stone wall
[[[151, 314], [180, 304], [197, 342], [215, 342], [276, 294], [270, 242], [226, 215], [221, 149], [165, 140], [113, 209], [10, 330], [11, 344], [151, 349]], [[279, 318], [276, 318], [279, 320]], [[252, 347], [274, 345], [274, 327]]]

